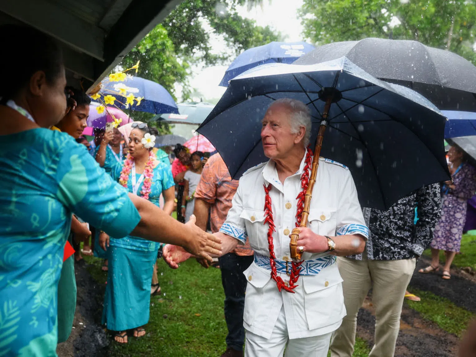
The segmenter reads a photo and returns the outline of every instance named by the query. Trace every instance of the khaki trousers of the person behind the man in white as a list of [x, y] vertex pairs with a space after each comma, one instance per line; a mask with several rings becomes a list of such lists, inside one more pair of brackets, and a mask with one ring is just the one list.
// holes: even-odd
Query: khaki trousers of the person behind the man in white
[[368, 290], [376, 308], [375, 345], [369, 357], [392, 357], [395, 353], [405, 290], [415, 270], [416, 259], [363, 260], [337, 258], [344, 282], [347, 316], [331, 339], [331, 357], [351, 357], [354, 352], [357, 312]]

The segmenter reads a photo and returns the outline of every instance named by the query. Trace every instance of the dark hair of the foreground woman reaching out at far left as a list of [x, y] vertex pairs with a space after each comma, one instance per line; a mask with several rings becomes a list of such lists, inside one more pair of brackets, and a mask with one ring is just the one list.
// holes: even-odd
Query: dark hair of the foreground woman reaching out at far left
[[32, 27], [0, 25], [0, 43], [8, 54], [0, 56], [1, 102], [15, 97], [41, 70], [48, 83], [53, 83], [64, 68], [58, 43], [47, 34]]

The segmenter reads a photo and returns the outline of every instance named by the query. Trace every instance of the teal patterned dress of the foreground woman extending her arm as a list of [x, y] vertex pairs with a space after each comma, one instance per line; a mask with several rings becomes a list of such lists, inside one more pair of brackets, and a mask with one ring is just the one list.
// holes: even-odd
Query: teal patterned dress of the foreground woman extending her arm
[[121, 238], [139, 212], [85, 146], [58, 131], [2, 136], [0, 178], [0, 356], [56, 356], [71, 214]]

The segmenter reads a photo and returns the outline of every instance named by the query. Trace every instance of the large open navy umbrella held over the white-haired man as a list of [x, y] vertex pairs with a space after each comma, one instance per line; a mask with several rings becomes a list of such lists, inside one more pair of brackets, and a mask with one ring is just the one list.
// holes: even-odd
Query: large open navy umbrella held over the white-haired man
[[417, 92], [376, 79], [345, 57], [264, 65], [230, 81], [198, 132], [217, 148], [233, 178], [267, 160], [261, 120], [280, 98], [301, 100], [310, 109], [311, 147], [331, 98], [321, 153], [349, 167], [362, 206], [386, 209], [423, 185], [449, 179], [441, 112]]

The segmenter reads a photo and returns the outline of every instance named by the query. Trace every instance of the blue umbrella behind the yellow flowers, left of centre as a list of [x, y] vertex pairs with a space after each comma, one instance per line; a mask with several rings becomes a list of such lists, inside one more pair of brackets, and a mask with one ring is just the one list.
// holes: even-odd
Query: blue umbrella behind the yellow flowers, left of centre
[[[120, 109], [146, 111], [154, 114], [178, 114], [177, 104], [167, 89], [149, 79], [131, 76], [120, 82], [110, 82], [108, 79], [105, 79], [102, 81], [101, 86], [100, 93], [116, 97], [118, 100], [114, 104]], [[134, 100], [134, 104], [127, 105], [126, 96], [120, 94], [120, 89], [126, 89], [127, 95], [133, 94], [135, 97], [143, 99], [140, 101], [140, 104]]]

